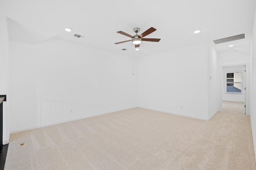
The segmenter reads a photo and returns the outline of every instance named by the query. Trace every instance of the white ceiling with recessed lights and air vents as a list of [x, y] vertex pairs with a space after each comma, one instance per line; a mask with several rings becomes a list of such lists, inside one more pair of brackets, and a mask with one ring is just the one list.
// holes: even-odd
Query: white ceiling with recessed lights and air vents
[[[208, 42], [217, 51], [236, 50], [250, 55], [255, 0], [2, 0], [6, 5], [9, 38], [36, 44], [51, 38], [64, 39], [132, 56], [144, 56], [170, 49]], [[72, 28], [72, 32], [64, 31]], [[116, 33], [139, 35], [154, 27], [142, 41], [140, 51], [131, 38]], [[195, 34], [194, 30], [201, 29]], [[246, 39], [215, 45], [212, 40], [246, 33]], [[73, 35], [83, 35], [76, 38]], [[234, 44], [230, 48], [228, 45]], [[128, 50], [122, 51], [126, 48]]]

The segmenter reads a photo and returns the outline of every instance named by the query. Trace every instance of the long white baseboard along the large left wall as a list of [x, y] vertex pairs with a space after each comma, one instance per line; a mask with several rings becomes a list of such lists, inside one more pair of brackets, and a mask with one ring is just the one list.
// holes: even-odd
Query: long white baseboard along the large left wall
[[[82, 117], [76, 117], [76, 118], [73, 118], [73, 119], [66, 119], [66, 120], [57, 121], [57, 122], [53, 122], [53, 123], [47, 123], [47, 124], [44, 124], [44, 125], [36, 125], [36, 126], [33, 126], [33, 127], [27, 127], [27, 128], [23, 128], [23, 129], [17, 129], [17, 130], [11, 131], [10, 133], [12, 134], [12, 133], [18, 133], [18, 132], [28, 131], [28, 130], [32, 130], [32, 129], [38, 129], [38, 128], [41, 128], [41, 127], [46, 127], [46, 126], [51, 126], [51, 125], [57, 125], [57, 124], [60, 124], [60, 123], [66, 123], [66, 122], [69, 122], [69, 121], [75, 121], [75, 120], [80, 120], [80, 119], [86, 119], [86, 118], [89, 118], [89, 117], [94, 117], [94, 116], [99, 116], [99, 115], [105, 115], [105, 114], [108, 114], [108, 113], [113, 113], [113, 112], [117, 112], [117, 111], [123, 111], [123, 110], [132, 109], [132, 108], [136, 108], [136, 107], [137, 107], [137, 106], [135, 106], [135, 107], [128, 107], [128, 108], [124, 108], [124, 109], [118, 109], [118, 110], [113, 110], [113, 111], [107, 111], [107, 112], [98, 113], [98, 114], [94, 114], [94, 115], [86, 115], [86, 116], [82, 116]], [[6, 141], [6, 144], [7, 144], [7, 141]]]

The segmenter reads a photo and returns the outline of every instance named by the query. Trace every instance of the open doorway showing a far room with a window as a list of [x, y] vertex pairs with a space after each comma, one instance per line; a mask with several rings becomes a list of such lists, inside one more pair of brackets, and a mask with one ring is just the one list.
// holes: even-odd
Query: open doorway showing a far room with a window
[[237, 111], [250, 115], [248, 71], [249, 63], [220, 66], [219, 111], [231, 104], [230, 107], [239, 107]]

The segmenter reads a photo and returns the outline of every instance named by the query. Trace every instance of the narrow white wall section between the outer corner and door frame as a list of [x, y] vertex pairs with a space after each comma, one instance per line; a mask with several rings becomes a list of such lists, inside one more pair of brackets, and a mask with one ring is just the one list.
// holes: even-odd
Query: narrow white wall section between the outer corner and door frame
[[208, 44], [208, 119], [219, 109], [218, 82], [218, 52]]

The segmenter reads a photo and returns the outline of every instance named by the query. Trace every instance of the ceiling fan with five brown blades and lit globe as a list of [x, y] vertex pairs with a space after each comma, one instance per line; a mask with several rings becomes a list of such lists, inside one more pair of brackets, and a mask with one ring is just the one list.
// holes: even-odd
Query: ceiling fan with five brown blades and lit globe
[[[134, 28], [133, 31], [136, 33], [136, 35], [134, 35], [134, 36], [129, 35], [128, 33], [125, 33], [123, 31], [117, 31], [117, 33], [120, 33], [122, 35], [126, 35], [127, 37], [132, 38], [131, 40], [128, 40], [128, 41], [132, 41], [132, 43], [135, 44], [135, 48], [140, 47], [141, 41], [152, 41], [152, 42], [160, 41], [160, 39], [158, 39], [158, 38], [143, 38], [146, 35], [156, 31], [156, 29], [153, 28], [153, 27], [151, 27], [150, 29], [146, 30], [144, 33], [142, 33], [140, 35], [137, 35], [137, 33], [140, 31], [139, 28]], [[128, 41], [122, 41], [122, 42], [118, 42], [118, 43], [115, 43], [115, 44], [126, 43]]]

